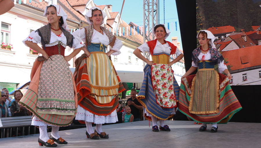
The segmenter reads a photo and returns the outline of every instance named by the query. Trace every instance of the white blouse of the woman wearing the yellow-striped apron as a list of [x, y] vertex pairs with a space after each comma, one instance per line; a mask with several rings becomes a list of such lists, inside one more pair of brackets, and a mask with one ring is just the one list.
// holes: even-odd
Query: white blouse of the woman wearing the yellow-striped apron
[[[81, 28], [79, 30], [76, 30], [75, 32], [72, 33], [73, 36], [78, 39], [81, 43], [85, 42], [85, 29]], [[109, 38], [105, 33], [103, 35], [99, 33], [97, 30], [93, 29], [93, 36], [91, 39], [92, 43], [102, 43], [106, 46], [110, 44]], [[119, 55], [120, 49], [122, 48], [122, 41], [116, 38], [116, 41], [114, 43], [114, 46], [110, 50], [115, 50], [116, 52], [113, 53], [112, 55]]]

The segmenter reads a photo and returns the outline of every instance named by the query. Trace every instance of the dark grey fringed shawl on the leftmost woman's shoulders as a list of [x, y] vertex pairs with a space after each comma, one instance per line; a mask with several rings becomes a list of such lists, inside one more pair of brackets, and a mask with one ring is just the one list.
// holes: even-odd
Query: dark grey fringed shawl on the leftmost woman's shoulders
[[[67, 30], [65, 30], [63, 27], [61, 27], [62, 32], [64, 33], [64, 36], [66, 37], [67, 43], [66, 45], [72, 48], [73, 46], [73, 35], [70, 34]], [[41, 37], [41, 44], [45, 50], [45, 44], [50, 43], [51, 39], [51, 25], [48, 23], [47, 25], [39, 28], [36, 30], [38, 32], [39, 36]]]

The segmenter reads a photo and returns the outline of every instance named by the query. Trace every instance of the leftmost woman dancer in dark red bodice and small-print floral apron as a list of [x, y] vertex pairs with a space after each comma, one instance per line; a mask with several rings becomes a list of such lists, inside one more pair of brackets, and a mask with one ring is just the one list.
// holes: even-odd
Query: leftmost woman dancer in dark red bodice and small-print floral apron
[[[47, 6], [44, 15], [48, 24], [32, 31], [23, 40], [26, 46], [41, 53], [45, 60], [36, 60], [33, 64], [30, 86], [19, 104], [34, 114], [32, 125], [39, 126], [39, 145], [56, 147], [54, 141], [67, 144], [58, 135], [59, 127], [68, 126], [73, 121], [77, 108], [76, 86], [67, 61], [77, 55], [83, 45], [68, 31], [67, 15], [61, 6]], [[75, 48], [68, 56], [64, 56], [66, 46]], [[52, 126], [50, 138], [47, 126]]]

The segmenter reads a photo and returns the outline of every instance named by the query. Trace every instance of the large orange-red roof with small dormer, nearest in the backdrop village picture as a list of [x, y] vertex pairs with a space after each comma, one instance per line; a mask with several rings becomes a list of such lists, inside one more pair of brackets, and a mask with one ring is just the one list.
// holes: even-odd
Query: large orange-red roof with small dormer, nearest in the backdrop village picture
[[261, 65], [261, 45], [221, 52], [231, 70]]

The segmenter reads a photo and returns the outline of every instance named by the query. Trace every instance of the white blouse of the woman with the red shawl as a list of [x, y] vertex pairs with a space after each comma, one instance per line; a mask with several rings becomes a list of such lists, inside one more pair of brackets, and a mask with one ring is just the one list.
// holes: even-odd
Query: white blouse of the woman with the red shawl
[[[147, 43], [142, 44], [141, 46], [138, 47], [138, 49], [143, 53], [144, 51], [148, 52], [150, 54], [150, 48], [148, 47]], [[153, 50], [153, 53], [167, 53], [170, 54], [171, 53], [171, 47], [168, 45], [168, 43], [166, 44], [161, 44], [158, 40], [156, 43], [156, 46]], [[182, 54], [182, 52], [177, 48], [175, 54], [177, 56], [179, 56], [180, 54]]]

